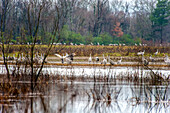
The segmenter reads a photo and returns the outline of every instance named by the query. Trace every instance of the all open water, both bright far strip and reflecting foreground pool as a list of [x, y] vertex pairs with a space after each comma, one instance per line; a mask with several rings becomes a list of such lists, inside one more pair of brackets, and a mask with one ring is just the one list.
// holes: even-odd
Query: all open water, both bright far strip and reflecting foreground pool
[[[14, 67], [10, 67], [12, 71]], [[1, 72], [4, 67], [1, 66]], [[155, 73], [170, 75], [168, 68], [153, 69]], [[80, 67], [45, 66], [44, 73], [62, 76], [126, 76], [137, 73], [147, 76], [142, 67]], [[38, 86], [39, 87], [39, 86]], [[169, 113], [170, 86], [149, 85], [112, 79], [109, 82], [62, 80], [44, 84], [37, 93], [19, 95], [19, 99], [2, 100], [0, 112], [36, 113]], [[21, 98], [22, 97], [22, 98]]]

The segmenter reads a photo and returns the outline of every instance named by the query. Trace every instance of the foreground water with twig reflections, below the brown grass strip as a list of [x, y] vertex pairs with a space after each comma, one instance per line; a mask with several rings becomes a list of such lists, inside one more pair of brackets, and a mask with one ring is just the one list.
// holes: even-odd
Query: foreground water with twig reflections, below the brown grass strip
[[[126, 84], [126, 85], [125, 85]], [[37, 87], [33, 95], [1, 99], [1, 112], [36, 113], [168, 113], [168, 85], [125, 82], [59, 82]]]

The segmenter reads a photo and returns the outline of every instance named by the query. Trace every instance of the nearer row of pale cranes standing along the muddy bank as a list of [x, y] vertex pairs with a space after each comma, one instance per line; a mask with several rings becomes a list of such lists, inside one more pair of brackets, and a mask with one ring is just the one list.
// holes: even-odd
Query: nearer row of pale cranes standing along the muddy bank
[[[143, 63], [143, 65], [147, 66], [149, 64], [149, 62], [155, 62], [155, 58], [152, 57], [152, 55], [150, 57], [148, 57], [148, 60], [144, 57], [144, 54], [145, 54], [145, 50], [143, 51], [140, 51], [137, 53], [138, 56], [141, 56], [141, 61]], [[159, 51], [157, 49], [157, 51], [155, 53], [153, 53], [153, 55], [158, 55], [159, 54]], [[76, 55], [75, 53], [71, 53], [71, 54], [68, 54], [68, 53], [65, 53], [63, 55], [60, 55], [60, 54], [54, 54], [56, 57], [59, 57], [60, 60], [61, 60], [61, 63], [64, 64], [65, 62], [67, 64], [72, 64], [73, 60], [74, 60], [74, 56]], [[3, 54], [2, 54], [3, 56]], [[16, 61], [17, 63], [19, 64], [25, 64], [25, 63], [30, 63], [31, 62], [31, 57], [30, 55], [25, 55], [23, 53], [20, 53], [17, 55], [13, 54], [13, 56], [7, 56], [5, 57], [5, 59], [7, 61]], [[33, 57], [33, 63], [35, 64], [41, 64], [44, 60], [44, 54], [41, 53], [41, 55], [39, 55], [38, 52], [36, 52], [36, 54], [34, 54], [34, 57]], [[122, 64], [122, 57], [120, 57], [120, 59], [118, 59], [117, 61], [113, 61], [110, 56], [107, 56], [105, 57], [105, 55], [103, 54], [103, 57], [102, 58], [99, 58], [98, 56], [96, 57], [92, 57], [91, 54], [89, 54], [89, 58], [88, 58], [88, 63], [91, 64], [91, 63], [100, 63], [100, 64], [103, 64], [103, 65], [106, 65], [106, 64], [110, 64], [110, 65], [115, 65], [115, 64]], [[47, 59], [45, 60], [45, 63], [47, 63]], [[170, 65], [170, 59], [168, 57], [168, 55], [166, 55], [166, 57], [164, 57], [164, 63], [166, 63], [167, 65]]]

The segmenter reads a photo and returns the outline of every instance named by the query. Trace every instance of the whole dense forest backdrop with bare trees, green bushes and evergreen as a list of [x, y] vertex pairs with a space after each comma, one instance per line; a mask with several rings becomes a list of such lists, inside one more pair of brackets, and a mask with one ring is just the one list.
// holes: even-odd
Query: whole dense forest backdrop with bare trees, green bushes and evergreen
[[[168, 0], [1, 0], [4, 43], [168, 44]], [[57, 29], [56, 29], [57, 28]]]

